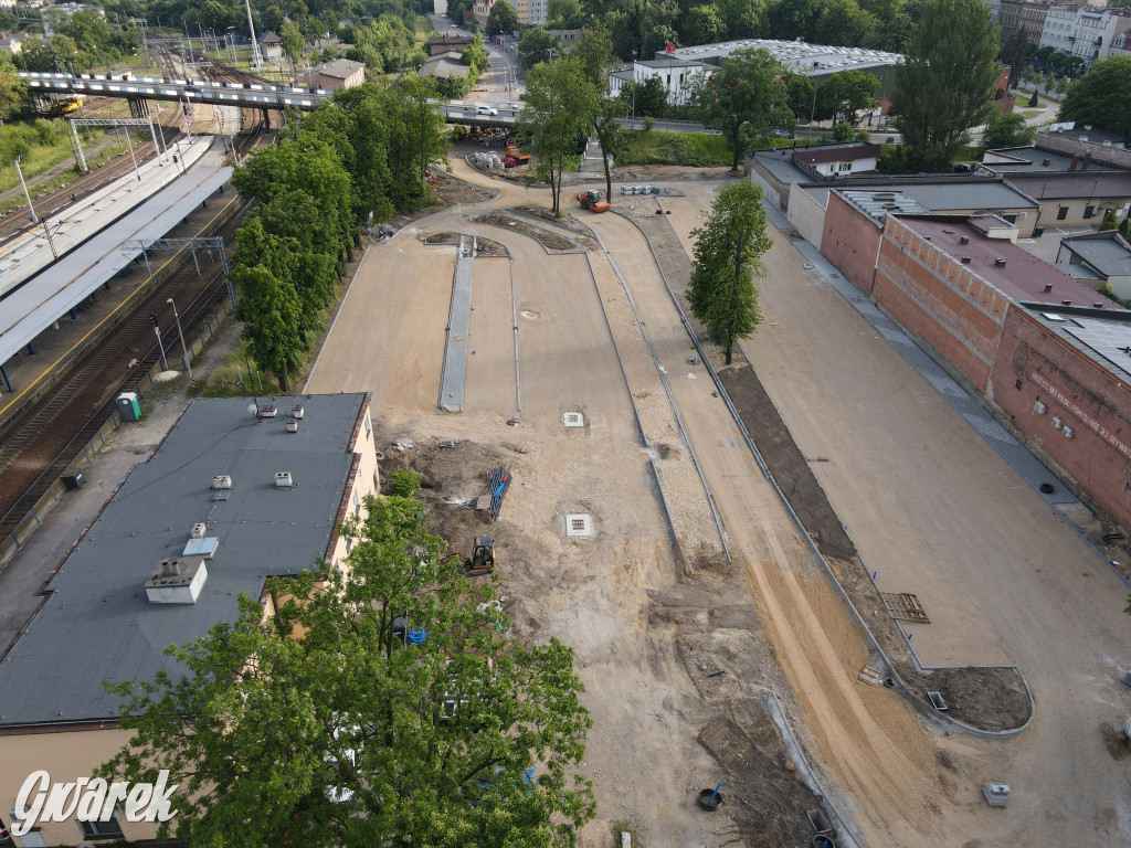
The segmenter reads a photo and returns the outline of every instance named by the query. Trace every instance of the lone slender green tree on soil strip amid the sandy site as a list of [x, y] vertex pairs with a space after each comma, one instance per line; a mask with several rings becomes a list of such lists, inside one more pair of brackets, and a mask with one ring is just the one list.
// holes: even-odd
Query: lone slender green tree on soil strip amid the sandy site
[[771, 244], [761, 200], [761, 188], [743, 178], [719, 192], [707, 223], [691, 233], [688, 303], [723, 346], [727, 365], [734, 343], [750, 338], [761, 321], [754, 278], [765, 276], [761, 258]]

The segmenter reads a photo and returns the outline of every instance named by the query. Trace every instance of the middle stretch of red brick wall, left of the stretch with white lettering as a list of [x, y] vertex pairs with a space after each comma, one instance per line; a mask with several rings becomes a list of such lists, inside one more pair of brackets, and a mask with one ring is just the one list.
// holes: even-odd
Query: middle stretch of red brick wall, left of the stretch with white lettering
[[897, 219], [884, 222], [872, 296], [986, 391], [1008, 300]]

